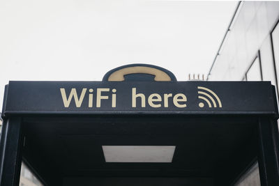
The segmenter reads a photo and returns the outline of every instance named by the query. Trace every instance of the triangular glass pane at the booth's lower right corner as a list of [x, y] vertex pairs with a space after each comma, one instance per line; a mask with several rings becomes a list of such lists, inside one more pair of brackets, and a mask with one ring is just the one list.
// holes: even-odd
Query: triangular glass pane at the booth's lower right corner
[[260, 186], [259, 166], [255, 164], [241, 176], [235, 186]]

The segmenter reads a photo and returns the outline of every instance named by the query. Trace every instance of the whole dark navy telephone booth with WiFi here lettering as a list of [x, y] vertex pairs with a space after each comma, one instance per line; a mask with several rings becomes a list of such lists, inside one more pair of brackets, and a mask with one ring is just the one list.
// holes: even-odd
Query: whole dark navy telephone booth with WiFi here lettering
[[270, 82], [177, 82], [125, 65], [101, 82], [9, 82], [0, 185], [22, 162], [44, 185], [234, 185], [259, 164], [279, 185], [278, 107]]

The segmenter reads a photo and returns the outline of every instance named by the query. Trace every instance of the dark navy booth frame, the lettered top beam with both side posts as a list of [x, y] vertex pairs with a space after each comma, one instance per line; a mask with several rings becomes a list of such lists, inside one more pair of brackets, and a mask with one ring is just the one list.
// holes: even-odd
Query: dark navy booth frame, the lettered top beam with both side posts
[[[222, 100], [223, 107], [199, 107], [199, 88], [214, 89]], [[187, 109], [179, 110], [174, 105], [153, 108], [150, 106], [126, 109], [125, 107], [111, 108], [111, 104], [104, 104], [104, 108], [88, 110], [86, 104], [75, 107], [74, 102], [69, 107], [63, 107], [59, 87], [66, 88], [68, 93], [73, 87], [109, 87], [117, 88], [123, 98], [130, 98], [130, 88], [137, 87], [146, 95], [164, 93], [169, 90], [173, 94], [187, 93]], [[148, 88], [146, 88], [148, 87]], [[58, 89], [57, 89], [58, 88]], [[121, 91], [124, 90], [124, 91]], [[126, 90], [126, 91], [125, 91]], [[18, 96], [18, 93], [23, 98]], [[35, 95], [49, 95], [38, 102]], [[225, 96], [226, 95], [226, 96]], [[225, 98], [227, 97], [227, 98]], [[43, 98], [43, 97], [42, 97]], [[36, 100], [37, 99], [37, 100]], [[60, 99], [60, 100], [57, 100]], [[238, 99], [238, 100], [237, 100]], [[206, 102], [204, 102], [204, 105]], [[123, 104], [123, 102], [121, 102]], [[140, 104], [140, 102], [137, 102]], [[61, 106], [62, 105], [62, 106]], [[239, 108], [241, 105], [241, 108]], [[220, 106], [220, 105], [219, 105]], [[22, 119], [25, 116], [94, 116], [95, 114], [182, 114], [185, 116], [255, 116], [258, 118], [258, 162], [261, 185], [279, 185], [279, 137], [278, 110], [274, 86], [270, 82], [10, 82], [6, 86], [3, 104], [3, 129], [0, 141], [0, 185], [15, 186], [20, 179], [22, 162]]]

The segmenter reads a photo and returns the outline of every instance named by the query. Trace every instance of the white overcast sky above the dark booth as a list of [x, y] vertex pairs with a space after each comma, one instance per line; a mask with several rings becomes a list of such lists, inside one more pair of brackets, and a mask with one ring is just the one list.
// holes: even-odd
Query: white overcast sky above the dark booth
[[129, 63], [207, 75], [237, 3], [1, 0], [0, 105], [9, 80], [100, 81]]

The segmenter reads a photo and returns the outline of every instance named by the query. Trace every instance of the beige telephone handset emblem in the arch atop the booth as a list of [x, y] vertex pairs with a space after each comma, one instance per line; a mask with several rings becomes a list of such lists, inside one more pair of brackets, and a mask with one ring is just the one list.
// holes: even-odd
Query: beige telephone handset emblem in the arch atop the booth
[[163, 72], [162, 70], [158, 70], [156, 68], [151, 68], [146, 66], [133, 66], [133, 67], [122, 68], [120, 70], [113, 72], [107, 80], [109, 82], [123, 82], [125, 80], [124, 75], [140, 74], [140, 73], [155, 75], [154, 80], [157, 82], [170, 82], [172, 80], [169, 77], [169, 75], [167, 75], [166, 72]]

